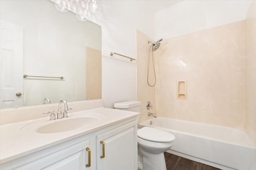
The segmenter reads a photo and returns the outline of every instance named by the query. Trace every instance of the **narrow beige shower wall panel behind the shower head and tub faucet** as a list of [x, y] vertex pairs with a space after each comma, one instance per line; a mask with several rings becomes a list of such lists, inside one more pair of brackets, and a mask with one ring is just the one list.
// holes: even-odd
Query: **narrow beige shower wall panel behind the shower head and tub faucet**
[[[140, 106], [140, 120], [139, 122], [146, 121], [151, 118], [148, 117], [148, 112], [156, 113], [156, 102], [155, 102], [155, 92], [156, 88], [150, 87], [147, 84], [147, 75], [148, 75], [148, 59], [149, 54], [151, 54], [150, 44], [148, 41], [152, 41], [148, 36], [143, 34], [142, 32], [136, 32], [136, 42], [137, 42], [137, 100], [141, 102]], [[155, 59], [154, 59], [155, 61]], [[150, 84], [154, 84], [154, 72], [152, 72], [152, 58], [150, 55], [150, 76], [149, 82]], [[153, 105], [153, 109], [148, 110], [146, 108], [147, 102], [150, 101]]]

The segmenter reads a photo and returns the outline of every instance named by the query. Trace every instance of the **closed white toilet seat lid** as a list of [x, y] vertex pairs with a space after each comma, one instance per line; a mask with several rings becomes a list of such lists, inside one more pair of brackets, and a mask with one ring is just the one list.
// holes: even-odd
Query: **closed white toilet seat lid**
[[170, 143], [175, 139], [174, 135], [172, 135], [171, 133], [152, 127], [142, 127], [141, 129], [139, 129], [138, 137], [146, 141], [159, 143]]

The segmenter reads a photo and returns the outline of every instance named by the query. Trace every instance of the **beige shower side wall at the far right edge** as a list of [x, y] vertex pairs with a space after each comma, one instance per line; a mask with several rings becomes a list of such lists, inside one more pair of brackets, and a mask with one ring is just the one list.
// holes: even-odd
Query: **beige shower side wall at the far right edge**
[[245, 20], [245, 129], [256, 146], [256, 2]]

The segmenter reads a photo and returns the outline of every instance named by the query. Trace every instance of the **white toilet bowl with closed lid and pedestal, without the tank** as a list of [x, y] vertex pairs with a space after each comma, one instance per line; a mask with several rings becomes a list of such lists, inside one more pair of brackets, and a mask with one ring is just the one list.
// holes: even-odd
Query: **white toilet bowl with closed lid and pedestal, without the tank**
[[167, 131], [152, 127], [138, 130], [138, 152], [142, 156], [142, 170], [166, 170], [164, 152], [172, 147], [175, 137]]

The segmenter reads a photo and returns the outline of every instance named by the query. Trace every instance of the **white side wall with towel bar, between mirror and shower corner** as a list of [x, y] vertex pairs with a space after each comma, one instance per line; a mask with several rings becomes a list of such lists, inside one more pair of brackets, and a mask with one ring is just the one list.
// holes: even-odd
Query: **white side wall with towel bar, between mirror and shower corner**
[[[136, 58], [136, 28], [153, 36], [154, 13], [142, 11], [144, 4], [135, 1], [101, 2], [101, 14], [94, 21], [102, 26], [102, 55], [113, 51]], [[102, 99], [105, 107], [136, 100], [136, 64], [102, 58]]]

